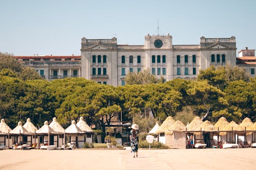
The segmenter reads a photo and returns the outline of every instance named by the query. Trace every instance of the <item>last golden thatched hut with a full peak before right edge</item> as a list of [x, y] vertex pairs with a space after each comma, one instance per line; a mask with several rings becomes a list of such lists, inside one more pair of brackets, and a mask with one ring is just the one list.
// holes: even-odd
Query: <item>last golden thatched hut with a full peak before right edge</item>
[[253, 123], [251, 122], [251, 119], [248, 117], [245, 117], [243, 119], [242, 123], [239, 125], [245, 131], [243, 136], [238, 136], [238, 140], [239, 140], [239, 142], [241, 141], [241, 143], [240, 143], [241, 145], [246, 145], [247, 141], [251, 141], [251, 139], [252, 139], [251, 135], [246, 135], [246, 130], [248, 130], [248, 128], [252, 125], [253, 125]]

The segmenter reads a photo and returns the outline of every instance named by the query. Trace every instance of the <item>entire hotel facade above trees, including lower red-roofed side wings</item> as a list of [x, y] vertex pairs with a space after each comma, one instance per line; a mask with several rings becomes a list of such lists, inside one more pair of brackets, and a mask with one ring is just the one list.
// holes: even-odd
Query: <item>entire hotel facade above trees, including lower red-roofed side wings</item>
[[[200, 69], [214, 66], [245, 67], [254, 77], [255, 50], [242, 50], [236, 56], [236, 38], [200, 38], [196, 45], [173, 45], [171, 35], [145, 36], [144, 45], [121, 45], [117, 39], [81, 39], [81, 56], [16, 56], [34, 67], [47, 80], [84, 77], [102, 84], [125, 85], [129, 72], [150, 69], [164, 81], [194, 79]], [[250, 51], [247, 52], [247, 51]], [[241, 54], [240, 54], [241, 53]], [[250, 57], [243, 57], [249, 54]], [[249, 61], [247, 61], [249, 59]], [[249, 62], [249, 63], [248, 63]]]

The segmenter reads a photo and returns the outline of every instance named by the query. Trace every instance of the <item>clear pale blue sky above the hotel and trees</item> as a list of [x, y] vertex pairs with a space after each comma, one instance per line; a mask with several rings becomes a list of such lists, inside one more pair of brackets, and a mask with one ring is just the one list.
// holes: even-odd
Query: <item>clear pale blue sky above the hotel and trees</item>
[[256, 1], [1, 1], [0, 52], [80, 55], [81, 38], [117, 37], [143, 45], [147, 33], [173, 36], [173, 44], [200, 37], [231, 37], [237, 52], [256, 48]]

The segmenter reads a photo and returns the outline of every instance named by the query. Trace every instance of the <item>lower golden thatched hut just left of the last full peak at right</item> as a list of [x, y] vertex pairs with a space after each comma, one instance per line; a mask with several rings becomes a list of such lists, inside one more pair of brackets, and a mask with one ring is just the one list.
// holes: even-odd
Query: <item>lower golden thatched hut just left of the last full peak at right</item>
[[220, 132], [221, 135], [226, 135], [226, 143], [238, 143], [238, 136], [244, 134], [244, 129], [241, 128], [237, 123], [231, 121], [228, 125], [223, 128]]

